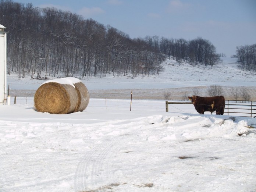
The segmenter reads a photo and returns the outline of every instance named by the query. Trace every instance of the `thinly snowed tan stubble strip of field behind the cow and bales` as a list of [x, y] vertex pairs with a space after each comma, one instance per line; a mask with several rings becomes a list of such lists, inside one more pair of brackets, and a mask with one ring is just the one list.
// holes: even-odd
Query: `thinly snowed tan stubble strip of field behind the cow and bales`
[[[206, 86], [194, 87], [198, 89], [199, 96], [208, 96]], [[171, 89], [133, 89], [133, 99], [152, 99], [152, 100], [166, 100], [164, 93], [170, 93], [168, 100], [184, 100], [186, 95], [194, 95], [194, 88], [171, 88]], [[232, 96], [232, 87], [222, 87], [223, 96], [226, 100], [234, 100]], [[239, 87], [238, 87], [239, 88]], [[241, 88], [239, 88], [241, 89]], [[11, 97], [34, 97], [36, 90], [10, 90]], [[256, 89], [255, 87], [246, 87], [246, 92], [250, 95], [249, 100], [256, 100]], [[97, 99], [130, 99], [130, 89], [110, 89], [110, 90], [89, 90], [90, 98]], [[241, 98], [238, 98], [239, 100]]]

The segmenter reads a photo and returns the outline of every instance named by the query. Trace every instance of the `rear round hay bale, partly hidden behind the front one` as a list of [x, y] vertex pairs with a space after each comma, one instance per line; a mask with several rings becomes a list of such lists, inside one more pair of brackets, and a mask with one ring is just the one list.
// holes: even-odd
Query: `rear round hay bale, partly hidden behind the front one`
[[78, 95], [78, 102], [74, 112], [83, 111], [89, 104], [90, 96], [88, 89], [82, 82], [74, 83]]

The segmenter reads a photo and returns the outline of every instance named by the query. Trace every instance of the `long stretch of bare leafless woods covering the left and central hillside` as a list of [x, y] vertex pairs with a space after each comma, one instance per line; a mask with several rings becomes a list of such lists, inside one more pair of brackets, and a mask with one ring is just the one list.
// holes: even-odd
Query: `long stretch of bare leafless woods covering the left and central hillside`
[[129, 38], [129, 35], [56, 8], [0, 0], [0, 23], [7, 36], [7, 72], [24, 78], [132, 77], [159, 74], [161, 63], [174, 58], [180, 64], [211, 65], [219, 61], [216, 47], [200, 37], [185, 39]]

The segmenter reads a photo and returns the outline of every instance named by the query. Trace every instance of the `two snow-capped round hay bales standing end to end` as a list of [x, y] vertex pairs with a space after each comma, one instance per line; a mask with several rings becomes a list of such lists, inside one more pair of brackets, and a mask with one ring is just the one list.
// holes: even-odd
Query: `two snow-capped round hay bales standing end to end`
[[36, 90], [35, 108], [39, 112], [67, 114], [83, 111], [89, 104], [89, 92], [77, 78], [46, 81]]

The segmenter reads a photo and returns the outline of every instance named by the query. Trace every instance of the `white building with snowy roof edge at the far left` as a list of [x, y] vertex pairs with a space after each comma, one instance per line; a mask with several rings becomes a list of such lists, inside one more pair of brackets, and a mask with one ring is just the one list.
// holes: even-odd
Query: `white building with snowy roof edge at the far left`
[[6, 80], [6, 61], [7, 61], [7, 43], [6, 27], [0, 25], [0, 104], [6, 104], [7, 99], [7, 80]]

